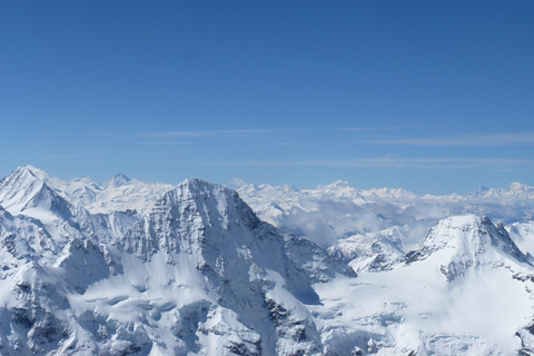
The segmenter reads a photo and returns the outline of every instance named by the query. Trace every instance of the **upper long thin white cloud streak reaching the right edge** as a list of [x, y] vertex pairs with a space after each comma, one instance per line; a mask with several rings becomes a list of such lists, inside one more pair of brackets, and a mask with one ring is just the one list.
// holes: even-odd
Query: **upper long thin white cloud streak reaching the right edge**
[[376, 139], [366, 142], [400, 146], [531, 146], [534, 145], [534, 132]]

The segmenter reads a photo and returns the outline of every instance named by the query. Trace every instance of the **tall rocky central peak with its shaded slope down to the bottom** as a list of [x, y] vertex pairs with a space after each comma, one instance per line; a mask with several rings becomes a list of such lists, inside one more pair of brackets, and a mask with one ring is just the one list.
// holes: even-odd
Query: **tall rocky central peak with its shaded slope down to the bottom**
[[[162, 275], [175, 275], [174, 266], [187, 269], [187, 275], [169, 280], [149, 275], [135, 279], [151, 294], [162, 284], [195, 294], [194, 304], [172, 298], [172, 305], [204, 315], [187, 333], [197, 335], [208, 354], [226, 354], [231, 343], [247, 355], [320, 350], [317, 326], [306, 307], [318, 303], [312, 285], [336, 274], [355, 276], [315, 244], [259, 220], [235, 190], [201, 179], [187, 179], [165, 194], [117, 246], [126, 253], [122, 259], [136, 257], [130, 261], [136, 266], [155, 266]], [[121, 276], [112, 278], [125, 283]], [[128, 314], [125, 308], [129, 307], [118, 306], [112, 313]], [[207, 315], [208, 309], [214, 315]], [[225, 320], [216, 320], [217, 314], [230, 312]], [[227, 332], [212, 330], [214, 324]], [[233, 332], [236, 327], [239, 333]], [[235, 333], [231, 343], [225, 336], [229, 332]], [[167, 340], [166, 347], [184, 349], [176, 339]]]

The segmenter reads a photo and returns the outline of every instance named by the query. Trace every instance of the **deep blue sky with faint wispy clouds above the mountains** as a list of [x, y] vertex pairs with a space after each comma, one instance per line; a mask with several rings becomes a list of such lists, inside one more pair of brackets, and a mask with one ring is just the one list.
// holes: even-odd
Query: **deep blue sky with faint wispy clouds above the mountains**
[[1, 1], [0, 176], [534, 186], [534, 1]]

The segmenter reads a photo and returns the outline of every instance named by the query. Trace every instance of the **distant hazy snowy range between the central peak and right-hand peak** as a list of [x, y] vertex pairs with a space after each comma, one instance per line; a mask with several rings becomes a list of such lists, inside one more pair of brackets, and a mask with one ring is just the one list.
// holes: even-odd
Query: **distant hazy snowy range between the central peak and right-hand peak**
[[344, 181], [304, 190], [245, 185], [238, 191], [261, 219], [329, 248], [357, 270], [390, 268], [449, 216], [475, 214], [505, 225], [534, 216], [534, 188], [521, 184], [467, 196], [358, 190]]

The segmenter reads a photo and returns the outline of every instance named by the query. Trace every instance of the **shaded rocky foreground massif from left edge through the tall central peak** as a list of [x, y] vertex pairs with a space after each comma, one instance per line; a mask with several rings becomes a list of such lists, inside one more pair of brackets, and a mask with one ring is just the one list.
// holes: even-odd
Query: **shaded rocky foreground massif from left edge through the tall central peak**
[[[17, 201], [19, 184], [40, 188]], [[222, 186], [186, 180], [115, 239], [82, 226], [52, 238], [23, 214], [42, 187], [27, 168], [0, 186], [0, 205], [17, 212], [0, 210], [2, 355], [318, 354], [313, 285], [356, 276]]]

